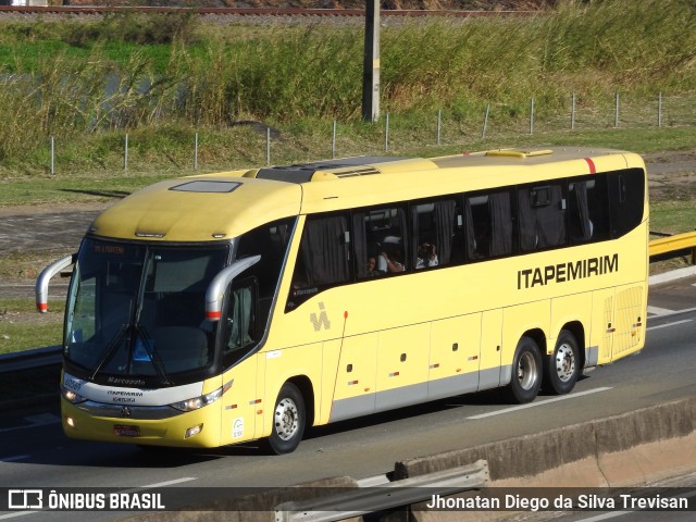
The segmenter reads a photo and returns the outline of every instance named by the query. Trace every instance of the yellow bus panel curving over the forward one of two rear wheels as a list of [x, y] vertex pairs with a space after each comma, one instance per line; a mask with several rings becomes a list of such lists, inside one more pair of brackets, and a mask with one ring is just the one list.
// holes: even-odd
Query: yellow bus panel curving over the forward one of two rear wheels
[[[540, 330], [548, 338], [551, 320], [550, 300], [530, 302], [506, 308], [504, 311], [502, 356], [500, 360], [500, 385], [510, 383], [512, 377], [512, 360], [520, 338], [525, 332]], [[539, 349], [543, 347], [539, 346]], [[540, 351], [542, 356], [544, 351]]]

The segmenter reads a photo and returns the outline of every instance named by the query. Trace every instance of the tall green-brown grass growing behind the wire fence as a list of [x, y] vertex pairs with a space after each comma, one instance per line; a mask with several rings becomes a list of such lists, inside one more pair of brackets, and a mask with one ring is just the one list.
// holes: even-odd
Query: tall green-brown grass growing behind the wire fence
[[[567, 0], [532, 17], [401, 21], [382, 29], [382, 111], [412, 133], [442, 109], [449, 126], [475, 136], [487, 104], [492, 133], [524, 129], [534, 98], [539, 126], [562, 128], [575, 94], [579, 128], [606, 128], [616, 92], [621, 123], [635, 126], [655, 123], [662, 91], [664, 125], [693, 125], [694, 22], [688, 0]], [[117, 133], [234, 136], [250, 120], [301, 148], [303, 126], [360, 126], [362, 46], [360, 27], [221, 28], [189, 14], [3, 24], [0, 171], [45, 174], [51, 136], [62, 164], [82, 170], [108, 163], [98, 144]], [[150, 147], [150, 157], [182, 165], [190, 142]], [[227, 159], [244, 152], [233, 146]]]

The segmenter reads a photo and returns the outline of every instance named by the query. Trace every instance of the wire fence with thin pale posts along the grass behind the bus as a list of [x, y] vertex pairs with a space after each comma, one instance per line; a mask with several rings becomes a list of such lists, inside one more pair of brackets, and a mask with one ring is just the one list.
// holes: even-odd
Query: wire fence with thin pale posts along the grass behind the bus
[[[696, 126], [695, 108], [695, 95], [663, 96], [662, 92], [657, 92], [648, 98], [636, 99], [617, 92], [611, 100], [604, 103], [587, 104], [581, 96], [571, 94], [568, 97], [568, 105], [562, 111], [549, 111], [543, 101], [531, 98], [526, 113], [521, 113], [519, 105], [501, 102], [482, 107], [478, 116], [469, 114], [463, 117], [452, 111], [438, 110], [432, 115], [432, 121], [423, 119], [422, 115], [414, 117], [387, 112], [377, 123], [364, 124], [372, 127], [369, 133], [356, 130], [355, 122], [336, 120], [326, 122], [325, 130], [313, 129], [311, 136], [293, 135], [293, 130], [281, 133], [266, 124], [252, 122], [253, 125], [246, 127], [252, 128], [256, 133], [252, 142], [258, 150], [248, 150], [245, 156], [247, 160], [251, 157], [258, 158], [258, 163], [265, 162], [266, 165], [273, 164], [277, 159], [288, 161], [288, 158], [300, 152], [283, 148], [291, 149], [288, 144], [301, 142], [303, 139], [311, 139], [314, 144], [325, 142], [326, 147], [319, 148], [325, 150], [325, 153], [321, 154], [322, 158], [330, 154], [332, 158], [338, 158], [361, 153], [389, 154], [395, 150], [403, 150], [405, 146], [413, 148], [431, 145], [482, 145], [492, 139], [513, 140], [522, 136], [544, 136], [562, 132], [581, 135], [583, 132], [612, 128], [693, 127]], [[128, 140], [128, 134], [124, 133], [122, 167], [125, 174], [132, 170]], [[51, 137], [51, 175], [55, 174], [59, 167], [57, 147], [57, 138]], [[200, 156], [204, 147], [204, 139], [196, 132], [192, 136], [189, 163], [194, 171], [206, 167]], [[316, 150], [316, 147], [312, 150]]]

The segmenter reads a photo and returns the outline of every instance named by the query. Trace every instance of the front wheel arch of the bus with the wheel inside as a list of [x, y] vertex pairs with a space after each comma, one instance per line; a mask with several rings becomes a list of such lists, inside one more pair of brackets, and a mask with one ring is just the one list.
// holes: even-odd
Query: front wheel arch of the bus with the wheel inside
[[314, 394], [307, 377], [286, 381], [272, 411], [270, 450], [275, 455], [290, 453], [297, 449], [304, 428], [313, 423]]

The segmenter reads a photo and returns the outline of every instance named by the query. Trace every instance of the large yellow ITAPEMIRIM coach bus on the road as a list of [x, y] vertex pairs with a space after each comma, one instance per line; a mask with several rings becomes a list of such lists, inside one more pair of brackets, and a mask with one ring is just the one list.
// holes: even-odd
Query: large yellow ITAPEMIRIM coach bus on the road
[[64, 328], [70, 437], [293, 451], [316, 426], [505, 388], [567, 394], [642, 349], [635, 153], [502, 149], [196, 175], [90, 225]]

